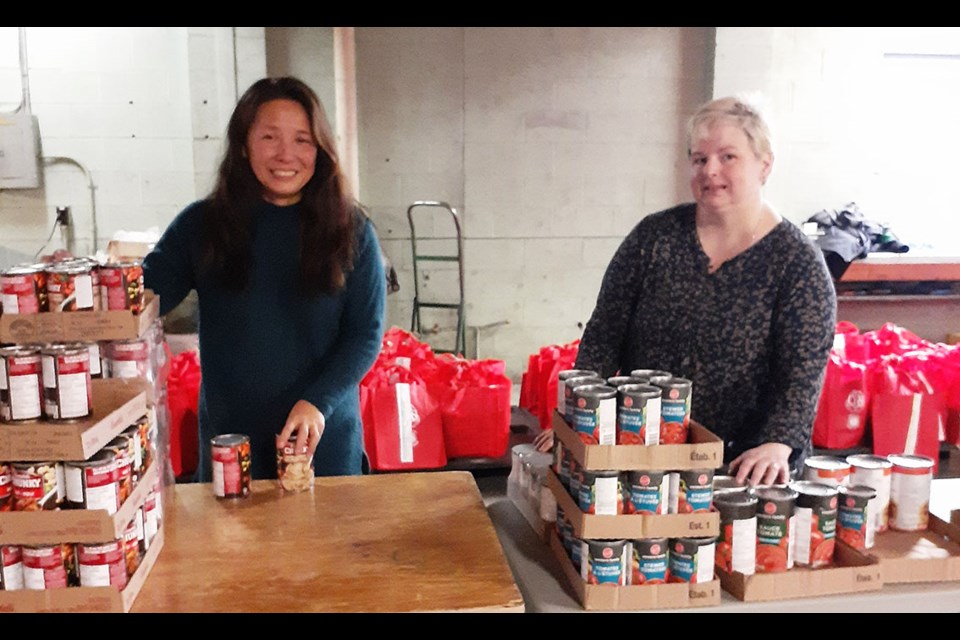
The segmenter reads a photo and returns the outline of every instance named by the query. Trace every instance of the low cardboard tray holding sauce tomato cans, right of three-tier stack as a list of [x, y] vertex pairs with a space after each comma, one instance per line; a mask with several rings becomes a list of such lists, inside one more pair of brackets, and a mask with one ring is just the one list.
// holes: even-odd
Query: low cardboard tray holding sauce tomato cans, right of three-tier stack
[[834, 566], [810, 569], [794, 567], [779, 573], [745, 575], [715, 569], [724, 591], [738, 600], [789, 600], [842, 593], [879, 591], [883, 576], [879, 563], [837, 541]]

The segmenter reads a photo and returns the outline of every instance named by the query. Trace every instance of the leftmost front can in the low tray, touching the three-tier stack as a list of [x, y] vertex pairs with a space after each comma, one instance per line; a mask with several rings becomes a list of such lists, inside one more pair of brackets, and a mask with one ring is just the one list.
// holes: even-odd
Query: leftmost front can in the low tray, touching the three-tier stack
[[727, 573], [753, 575], [757, 568], [757, 497], [747, 491], [714, 496], [720, 514], [720, 534], [714, 563]]

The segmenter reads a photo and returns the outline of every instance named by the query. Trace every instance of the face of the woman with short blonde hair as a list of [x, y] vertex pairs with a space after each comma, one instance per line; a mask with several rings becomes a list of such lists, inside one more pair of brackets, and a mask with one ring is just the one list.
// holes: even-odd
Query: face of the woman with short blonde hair
[[712, 213], [759, 204], [773, 156], [758, 155], [735, 122], [714, 120], [698, 134], [690, 147], [690, 190], [697, 204]]

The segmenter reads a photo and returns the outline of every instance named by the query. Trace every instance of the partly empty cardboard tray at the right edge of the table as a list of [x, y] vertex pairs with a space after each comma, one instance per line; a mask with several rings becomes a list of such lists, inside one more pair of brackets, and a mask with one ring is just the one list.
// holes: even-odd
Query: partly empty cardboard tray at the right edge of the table
[[925, 531], [888, 529], [866, 553], [879, 560], [885, 584], [960, 580], [960, 526], [932, 513]]

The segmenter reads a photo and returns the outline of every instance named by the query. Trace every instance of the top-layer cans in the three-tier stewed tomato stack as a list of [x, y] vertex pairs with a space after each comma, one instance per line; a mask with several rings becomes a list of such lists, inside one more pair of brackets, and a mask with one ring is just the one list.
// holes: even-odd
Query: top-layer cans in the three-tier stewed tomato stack
[[667, 371], [637, 369], [602, 378], [561, 371], [557, 411], [584, 444], [682, 444], [688, 440], [693, 384]]

